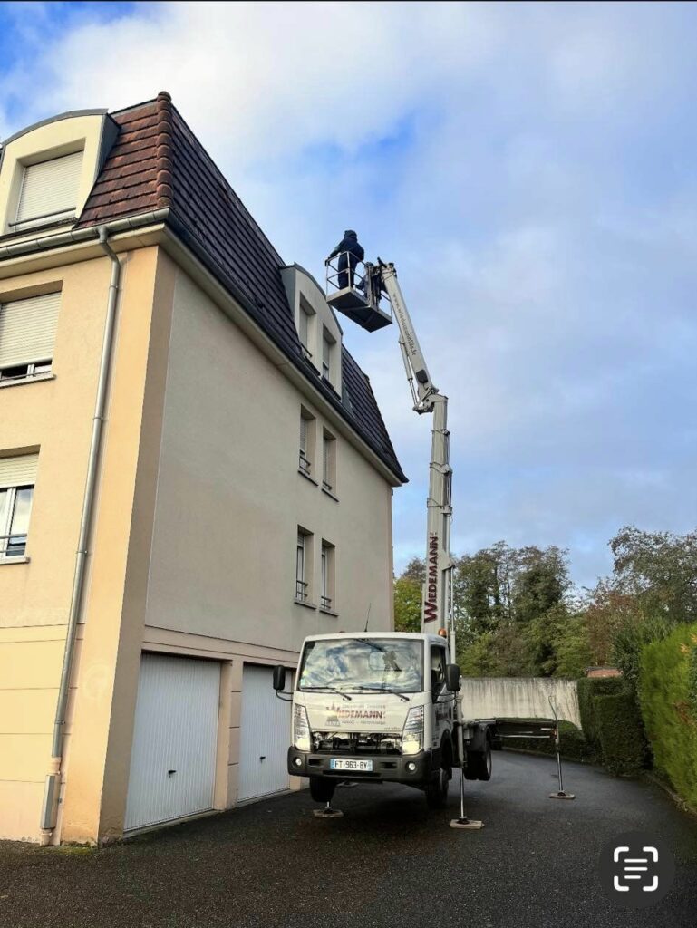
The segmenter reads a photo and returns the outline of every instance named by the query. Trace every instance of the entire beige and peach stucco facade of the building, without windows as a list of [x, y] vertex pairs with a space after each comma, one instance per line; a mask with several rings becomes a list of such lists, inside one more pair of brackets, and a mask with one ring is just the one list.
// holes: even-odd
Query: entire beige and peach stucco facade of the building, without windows
[[[113, 244], [123, 275], [54, 843], [123, 834], [143, 651], [220, 663], [213, 807], [226, 808], [245, 662], [291, 667], [305, 635], [363, 627], [368, 608], [371, 628], [392, 624], [394, 476], [165, 229]], [[0, 303], [61, 291], [55, 376], [0, 389], [0, 456], [39, 454], [29, 560], [0, 561], [0, 837], [37, 841], [110, 261], [76, 244], [0, 274]], [[335, 439], [331, 493], [298, 469], [301, 408]], [[313, 539], [305, 603], [298, 526]]]

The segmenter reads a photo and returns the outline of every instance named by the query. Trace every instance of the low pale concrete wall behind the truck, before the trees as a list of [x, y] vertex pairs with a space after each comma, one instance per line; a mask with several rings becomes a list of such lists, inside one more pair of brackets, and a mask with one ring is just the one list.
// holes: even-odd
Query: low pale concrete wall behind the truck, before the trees
[[575, 680], [556, 677], [462, 677], [465, 718], [551, 718], [557, 715], [581, 728]]

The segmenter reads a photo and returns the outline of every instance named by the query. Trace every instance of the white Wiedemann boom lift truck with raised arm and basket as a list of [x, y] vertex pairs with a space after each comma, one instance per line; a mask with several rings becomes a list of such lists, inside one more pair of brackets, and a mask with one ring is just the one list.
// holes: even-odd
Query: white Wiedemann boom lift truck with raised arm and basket
[[[392, 313], [381, 306], [383, 294]], [[352, 632], [305, 638], [292, 701], [290, 774], [308, 777], [310, 793], [330, 803], [340, 781], [392, 781], [419, 788], [433, 808], [445, 805], [453, 769], [460, 774], [460, 817], [451, 824], [481, 828], [464, 813], [464, 780], [491, 778], [496, 720], [466, 719], [456, 664], [452, 606], [452, 521], [447, 397], [434, 385], [399, 287], [394, 264], [327, 264], [327, 302], [368, 331], [394, 319], [399, 329], [414, 410], [432, 414], [427, 502], [426, 581], [421, 631]], [[285, 686], [277, 667], [274, 689]]]

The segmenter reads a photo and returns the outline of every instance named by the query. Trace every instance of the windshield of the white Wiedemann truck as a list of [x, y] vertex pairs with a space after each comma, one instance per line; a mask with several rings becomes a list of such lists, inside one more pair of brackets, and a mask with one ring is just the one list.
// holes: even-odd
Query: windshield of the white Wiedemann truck
[[328, 638], [308, 641], [299, 690], [423, 690], [423, 643], [406, 638]]

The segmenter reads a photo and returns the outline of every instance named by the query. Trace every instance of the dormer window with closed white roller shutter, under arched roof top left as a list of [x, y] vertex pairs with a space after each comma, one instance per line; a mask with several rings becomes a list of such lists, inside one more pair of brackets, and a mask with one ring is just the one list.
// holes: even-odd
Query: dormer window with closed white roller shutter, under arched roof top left
[[15, 232], [70, 219], [77, 209], [83, 152], [27, 164], [22, 172]]

